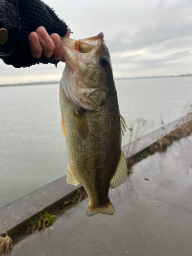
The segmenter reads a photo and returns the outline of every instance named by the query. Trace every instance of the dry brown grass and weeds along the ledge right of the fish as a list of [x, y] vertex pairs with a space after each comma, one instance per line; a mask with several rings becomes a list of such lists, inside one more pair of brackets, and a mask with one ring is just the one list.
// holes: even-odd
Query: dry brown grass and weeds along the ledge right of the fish
[[136, 154], [136, 151], [137, 144], [140, 138], [143, 136], [143, 134], [146, 133], [147, 130], [150, 130], [151, 127], [153, 127], [153, 125], [148, 124], [146, 120], [144, 120], [143, 118], [139, 118], [135, 122], [129, 124], [129, 144], [127, 144], [127, 147], [124, 151], [128, 167], [128, 174], [131, 173], [131, 168], [135, 163], [145, 158], [143, 152], [147, 154], [163, 152], [166, 150], [167, 146], [171, 145], [175, 140], [186, 137], [192, 132], [192, 120], [190, 120], [190, 114], [192, 113], [189, 113], [189, 111], [192, 111], [192, 104], [190, 103], [188, 103], [185, 106], [185, 109], [182, 113], [185, 113], [185, 115], [189, 115], [183, 119], [181, 118], [178, 124], [176, 125], [176, 127], [179, 127], [177, 127], [173, 132], [165, 136], [163, 136], [163, 134], [166, 134], [166, 131], [164, 131], [163, 117], [160, 116], [162, 129], [159, 129], [159, 133], [157, 135], [159, 139], [157, 139], [157, 141], [153, 143], [151, 146], [144, 148], [143, 151], [138, 154]]

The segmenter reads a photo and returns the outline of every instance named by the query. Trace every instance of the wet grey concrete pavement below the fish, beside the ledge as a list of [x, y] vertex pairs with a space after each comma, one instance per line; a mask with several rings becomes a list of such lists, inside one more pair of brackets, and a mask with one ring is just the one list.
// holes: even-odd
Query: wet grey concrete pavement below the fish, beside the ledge
[[191, 156], [192, 136], [143, 159], [110, 191], [115, 215], [89, 218], [84, 200], [16, 244], [11, 256], [192, 255]]

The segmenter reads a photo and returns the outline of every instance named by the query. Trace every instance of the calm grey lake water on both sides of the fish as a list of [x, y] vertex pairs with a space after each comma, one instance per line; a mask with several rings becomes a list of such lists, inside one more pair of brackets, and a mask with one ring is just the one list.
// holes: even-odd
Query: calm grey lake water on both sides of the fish
[[[115, 80], [127, 126], [143, 134], [186, 114], [192, 77]], [[67, 173], [58, 84], [0, 87], [0, 207]], [[123, 144], [129, 142], [129, 130]]]

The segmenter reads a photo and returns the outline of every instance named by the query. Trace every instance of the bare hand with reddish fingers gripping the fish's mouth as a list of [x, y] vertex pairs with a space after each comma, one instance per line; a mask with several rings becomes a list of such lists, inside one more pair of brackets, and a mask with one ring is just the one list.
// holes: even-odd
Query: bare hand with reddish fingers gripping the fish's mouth
[[[64, 37], [69, 38], [70, 32], [68, 31]], [[38, 27], [35, 32], [29, 34], [28, 40], [31, 46], [31, 54], [35, 59], [39, 59], [42, 54], [46, 58], [51, 58], [54, 55], [55, 60], [65, 62], [63, 57], [65, 48], [58, 34], [49, 35], [44, 27]]]

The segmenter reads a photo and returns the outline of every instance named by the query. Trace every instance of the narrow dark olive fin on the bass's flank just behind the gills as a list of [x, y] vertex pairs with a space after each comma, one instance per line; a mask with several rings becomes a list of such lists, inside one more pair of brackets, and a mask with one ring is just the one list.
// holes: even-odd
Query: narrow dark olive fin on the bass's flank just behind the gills
[[86, 140], [87, 134], [88, 134], [88, 124], [87, 124], [87, 118], [84, 114], [84, 111], [79, 108], [74, 112], [75, 120], [77, 123], [79, 134], [82, 138], [82, 140]]

